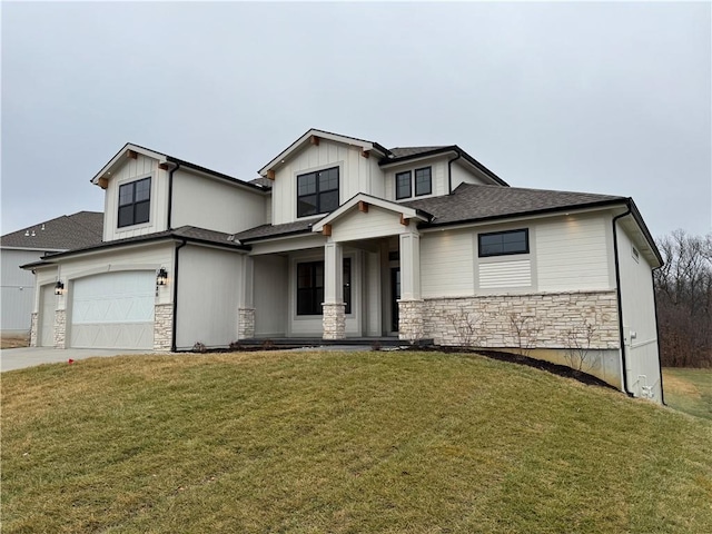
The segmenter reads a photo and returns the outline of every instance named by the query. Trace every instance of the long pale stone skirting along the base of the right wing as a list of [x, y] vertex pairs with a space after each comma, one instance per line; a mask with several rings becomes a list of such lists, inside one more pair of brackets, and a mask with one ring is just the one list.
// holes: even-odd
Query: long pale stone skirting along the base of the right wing
[[615, 291], [428, 298], [423, 316], [424, 337], [437, 345], [620, 347]]

